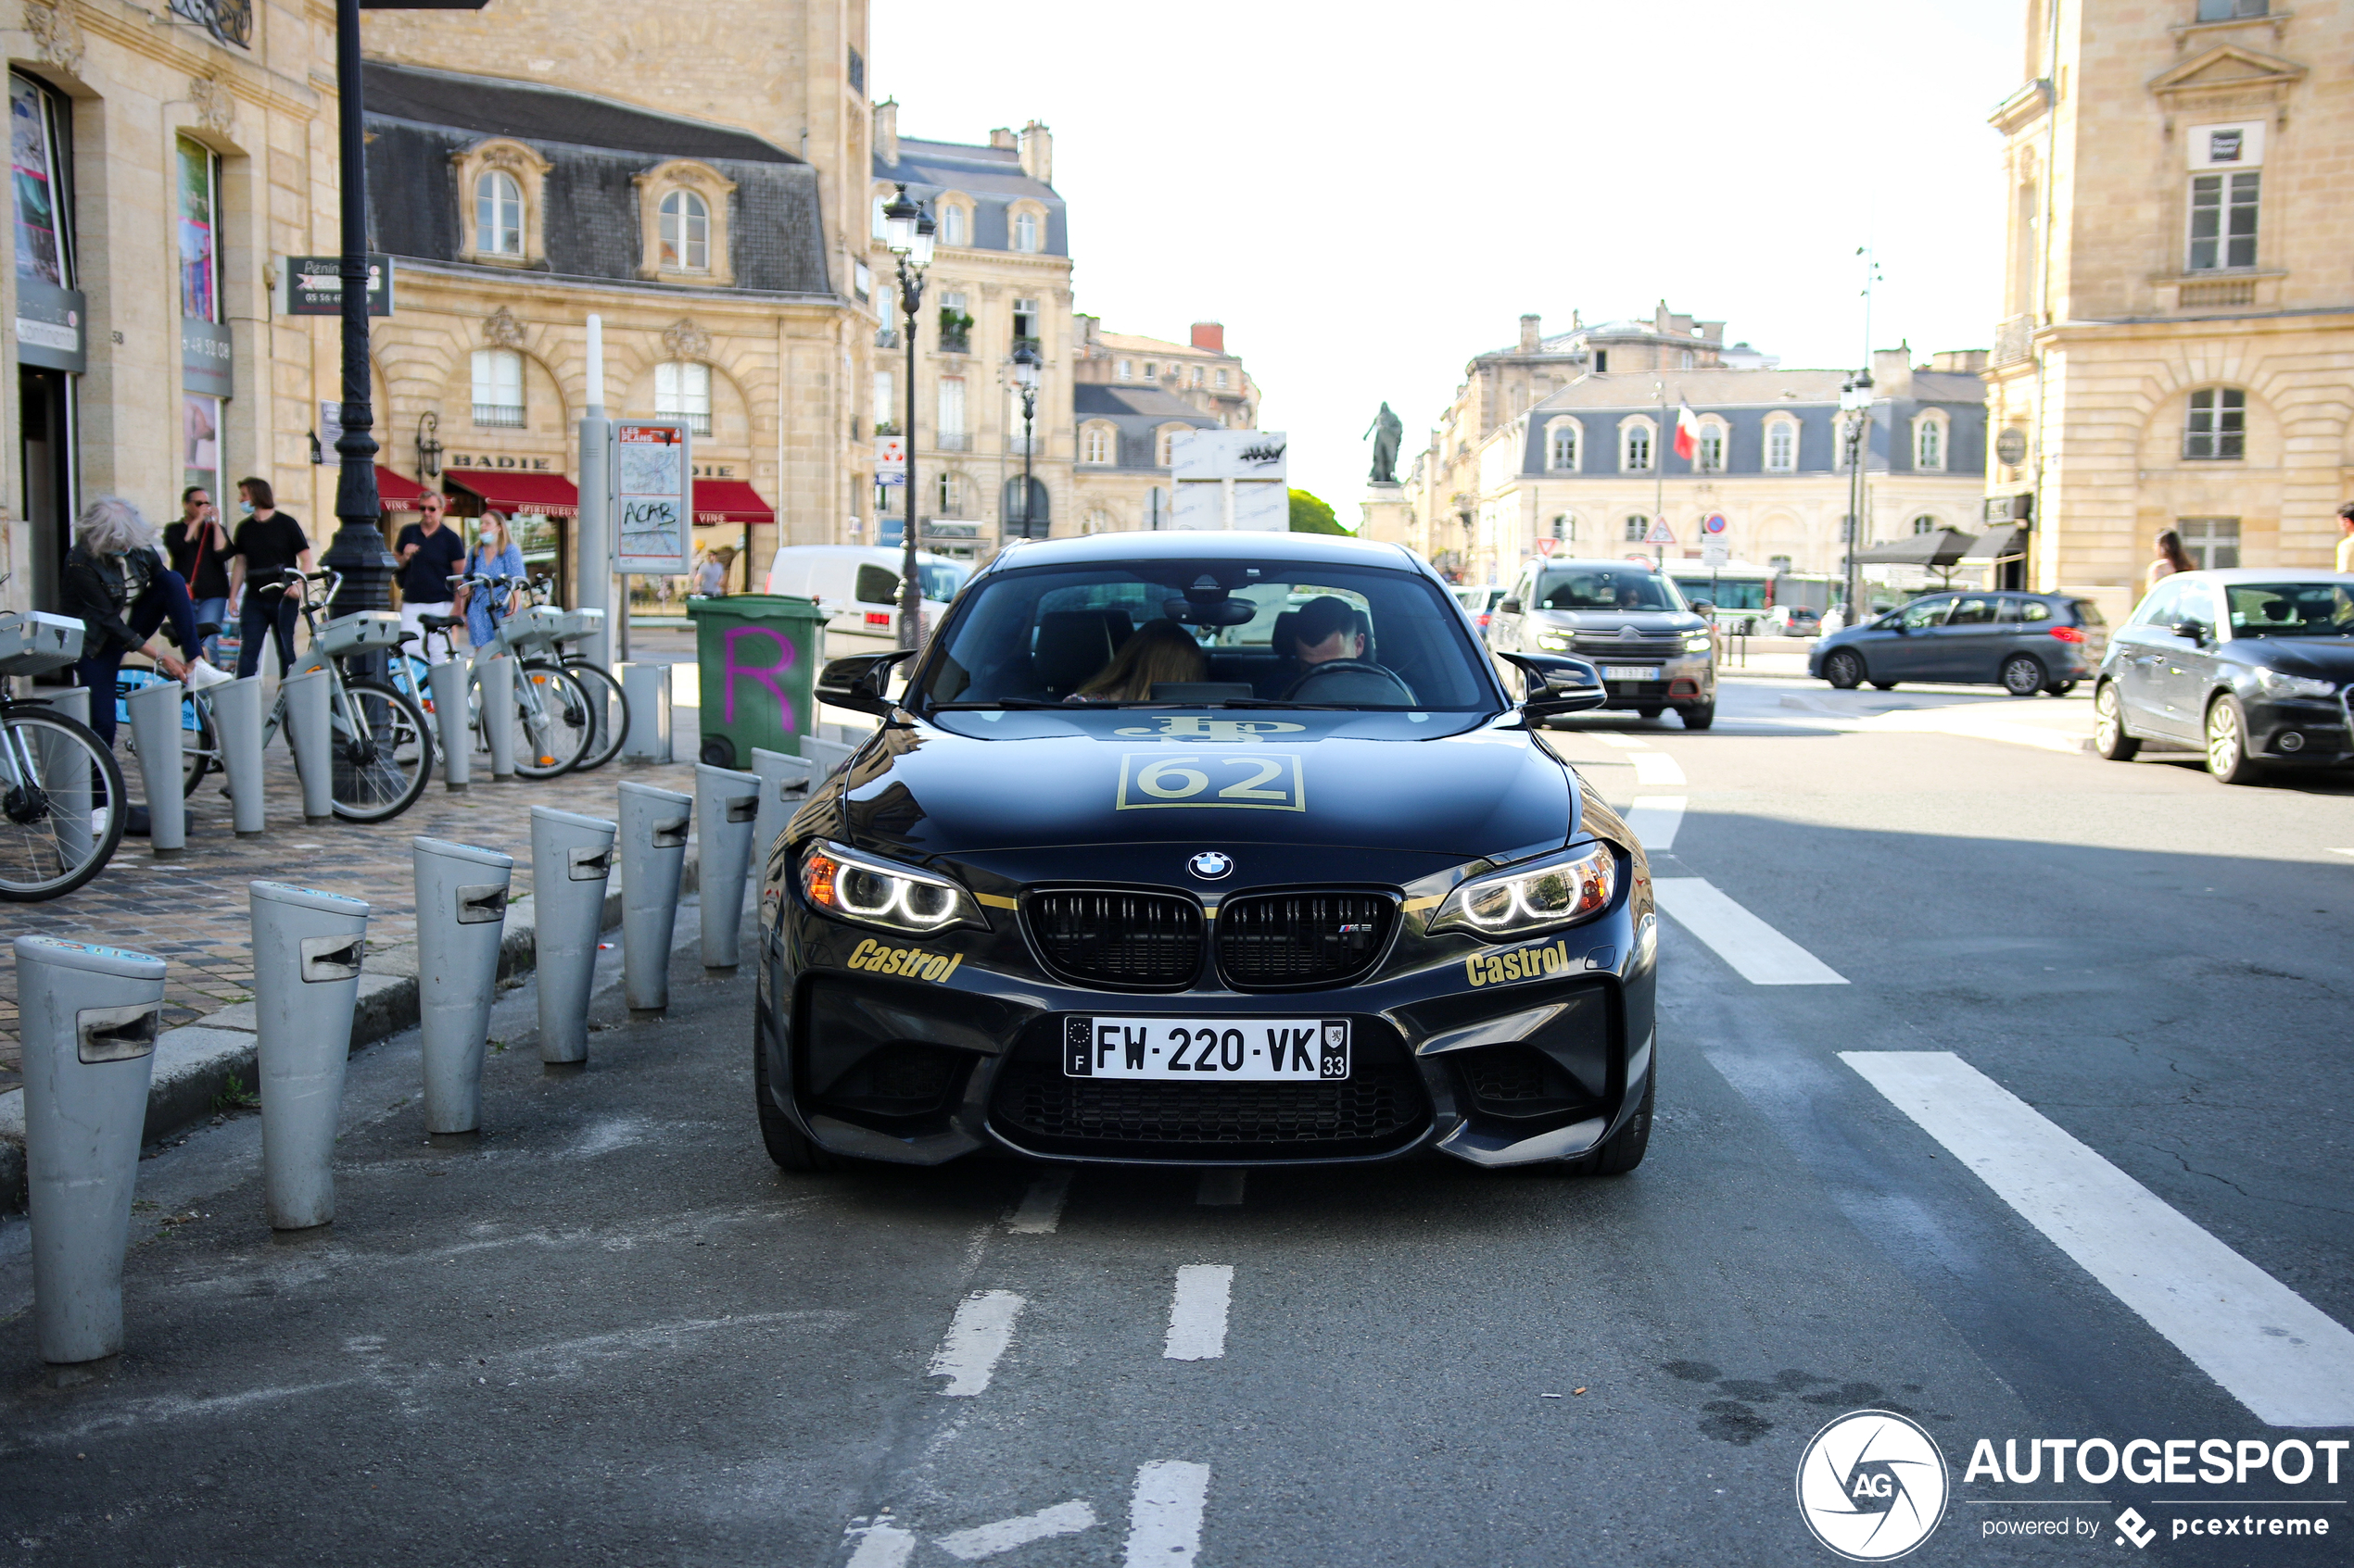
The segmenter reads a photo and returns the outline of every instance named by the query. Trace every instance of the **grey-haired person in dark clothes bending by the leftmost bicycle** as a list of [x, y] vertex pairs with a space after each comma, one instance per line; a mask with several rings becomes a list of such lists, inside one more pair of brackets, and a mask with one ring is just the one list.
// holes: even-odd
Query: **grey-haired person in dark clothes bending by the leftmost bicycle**
[[[205, 663], [195, 639], [188, 583], [155, 552], [160, 534], [137, 505], [99, 496], [73, 520], [66, 552], [64, 609], [82, 623], [82, 663], [75, 682], [89, 686], [89, 729], [115, 743], [115, 675], [125, 654], [148, 654], [169, 679], [212, 686], [228, 675]], [[155, 628], [172, 623], [172, 642], [188, 656], [155, 642]]]

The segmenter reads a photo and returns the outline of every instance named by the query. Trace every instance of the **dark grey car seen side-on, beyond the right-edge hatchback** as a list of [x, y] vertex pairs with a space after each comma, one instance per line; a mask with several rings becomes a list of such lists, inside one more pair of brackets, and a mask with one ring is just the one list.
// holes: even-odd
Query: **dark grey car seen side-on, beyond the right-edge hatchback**
[[1806, 651], [1806, 672], [1841, 691], [1907, 679], [2067, 696], [2100, 668], [2109, 623], [2064, 592], [1926, 592]]

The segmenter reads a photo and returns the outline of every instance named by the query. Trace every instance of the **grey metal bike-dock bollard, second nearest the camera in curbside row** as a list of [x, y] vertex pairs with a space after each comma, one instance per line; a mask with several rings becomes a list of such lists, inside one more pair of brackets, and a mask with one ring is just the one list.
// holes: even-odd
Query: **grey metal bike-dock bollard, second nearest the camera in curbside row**
[[245, 893], [254, 919], [261, 1201], [271, 1229], [311, 1229], [334, 1220], [334, 1121], [351, 1009], [360, 1001], [367, 905], [287, 882], [247, 882]]

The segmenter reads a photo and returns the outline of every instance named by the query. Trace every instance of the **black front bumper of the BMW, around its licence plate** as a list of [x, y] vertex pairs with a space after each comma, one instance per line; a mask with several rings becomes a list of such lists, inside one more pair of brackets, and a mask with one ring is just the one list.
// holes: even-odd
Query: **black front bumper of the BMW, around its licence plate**
[[[819, 1147], [895, 1164], [984, 1147], [1128, 1166], [1577, 1159], [1650, 1074], [1655, 914], [1643, 863], [1624, 865], [1612, 910], [1547, 938], [1434, 938], [1408, 910], [1365, 980], [1321, 990], [1080, 987], [1045, 971], [1010, 910], [989, 910], [993, 931], [918, 943], [782, 900], [758, 1048], [777, 1110]], [[1064, 1077], [1073, 1016], [1349, 1018], [1354, 1065], [1332, 1084]]]

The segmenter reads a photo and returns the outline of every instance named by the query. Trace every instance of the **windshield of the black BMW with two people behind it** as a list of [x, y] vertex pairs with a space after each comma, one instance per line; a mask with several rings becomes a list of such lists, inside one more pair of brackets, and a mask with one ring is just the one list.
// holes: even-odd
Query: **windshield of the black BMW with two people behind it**
[[998, 571], [946, 628], [956, 708], [1184, 703], [1485, 712], [1462, 614], [1410, 571], [1161, 559]]

